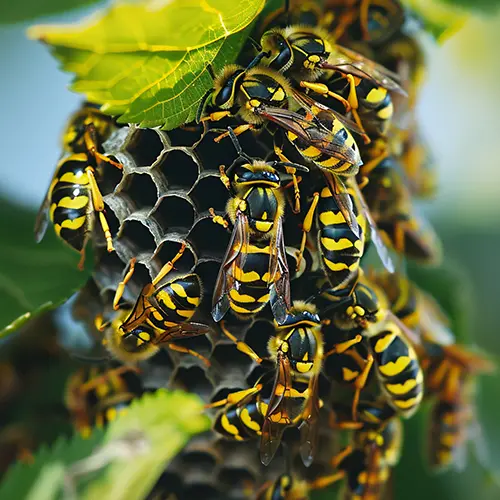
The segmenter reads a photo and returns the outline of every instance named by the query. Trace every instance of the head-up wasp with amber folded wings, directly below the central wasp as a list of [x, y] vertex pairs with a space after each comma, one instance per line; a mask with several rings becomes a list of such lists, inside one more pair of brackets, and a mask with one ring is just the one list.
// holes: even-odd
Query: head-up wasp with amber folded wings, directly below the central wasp
[[[276, 335], [269, 339], [269, 358], [275, 363], [275, 378], [262, 425], [260, 456], [271, 462], [287, 427], [301, 431], [301, 456], [310, 465], [316, 449], [319, 409], [318, 379], [324, 357], [321, 320], [314, 304], [294, 301], [285, 321], [275, 323]], [[238, 350], [262, 363], [253, 349], [238, 341], [221, 323], [221, 330]]]

